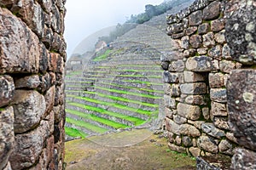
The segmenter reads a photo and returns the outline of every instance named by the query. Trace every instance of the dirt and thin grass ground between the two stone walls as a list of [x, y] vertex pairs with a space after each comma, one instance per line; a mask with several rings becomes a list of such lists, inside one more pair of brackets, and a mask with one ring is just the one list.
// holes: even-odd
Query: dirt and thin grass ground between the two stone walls
[[66, 143], [67, 170], [192, 170], [192, 157], [172, 152], [147, 129], [110, 133]]

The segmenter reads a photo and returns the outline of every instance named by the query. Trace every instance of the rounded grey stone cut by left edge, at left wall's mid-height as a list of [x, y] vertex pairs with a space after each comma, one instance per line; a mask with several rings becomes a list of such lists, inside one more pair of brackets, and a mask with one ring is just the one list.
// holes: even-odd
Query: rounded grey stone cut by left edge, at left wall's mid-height
[[0, 107], [9, 105], [15, 95], [15, 82], [12, 77], [0, 76]]

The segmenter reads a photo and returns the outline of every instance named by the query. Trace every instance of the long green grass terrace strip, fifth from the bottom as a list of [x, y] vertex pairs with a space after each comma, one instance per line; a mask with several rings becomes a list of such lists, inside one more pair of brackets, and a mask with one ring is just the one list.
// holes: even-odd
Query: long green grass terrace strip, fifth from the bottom
[[113, 102], [100, 101], [100, 100], [97, 100], [97, 99], [90, 99], [90, 98], [87, 98], [87, 97], [80, 97], [80, 96], [72, 96], [72, 97], [76, 98], [76, 99], [83, 99], [85, 101], [89, 101], [91, 103], [95, 103], [95, 104], [99, 104], [99, 105], [108, 105], [108, 106], [113, 106], [115, 108], [119, 108], [119, 109], [125, 110], [125, 111], [137, 112], [139, 114], [143, 114], [143, 115], [147, 115], [147, 116], [150, 116], [152, 114], [152, 111], [144, 111], [144, 110], [141, 110], [141, 109], [129, 107], [129, 106], [126, 106], [126, 105], [120, 105], [120, 104], [113, 103]]

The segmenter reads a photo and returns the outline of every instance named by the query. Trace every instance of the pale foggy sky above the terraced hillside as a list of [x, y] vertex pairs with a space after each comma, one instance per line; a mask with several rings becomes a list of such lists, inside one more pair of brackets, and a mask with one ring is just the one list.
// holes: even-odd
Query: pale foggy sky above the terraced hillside
[[85, 37], [108, 26], [122, 24], [131, 14], [144, 12], [146, 4], [164, 0], [67, 0], [64, 37], [67, 56]]

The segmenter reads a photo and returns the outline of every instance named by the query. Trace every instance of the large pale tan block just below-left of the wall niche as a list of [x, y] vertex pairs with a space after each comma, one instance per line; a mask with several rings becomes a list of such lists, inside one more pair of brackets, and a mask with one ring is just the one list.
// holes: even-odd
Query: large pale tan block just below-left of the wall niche
[[201, 116], [201, 109], [197, 105], [177, 104], [177, 114], [190, 120], [198, 120]]

